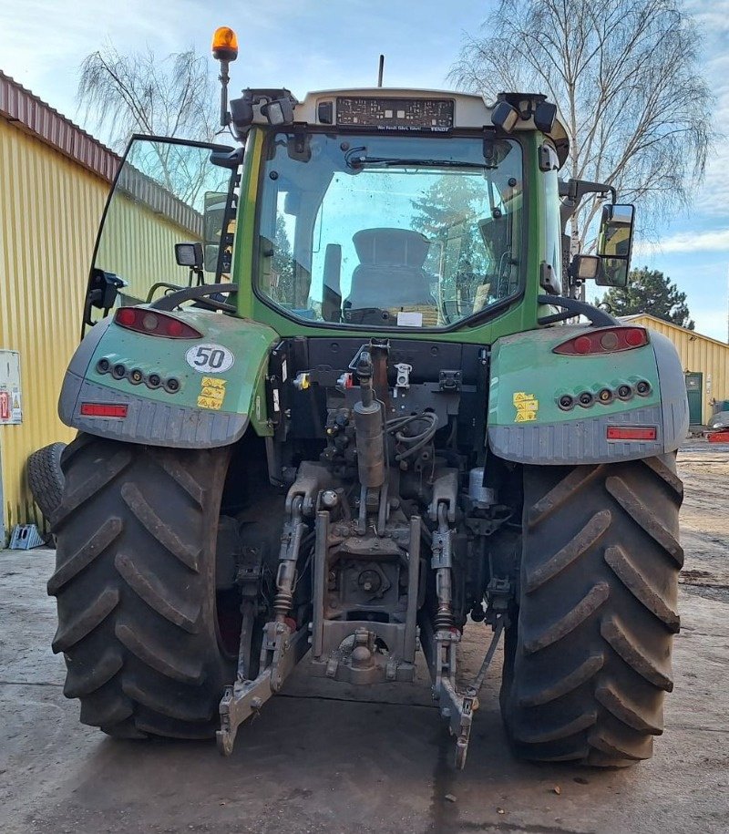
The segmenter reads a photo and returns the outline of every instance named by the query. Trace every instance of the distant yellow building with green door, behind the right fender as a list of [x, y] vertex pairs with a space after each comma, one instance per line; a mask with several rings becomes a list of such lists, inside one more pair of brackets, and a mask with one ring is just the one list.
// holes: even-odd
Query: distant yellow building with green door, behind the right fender
[[654, 315], [627, 315], [622, 321], [641, 324], [671, 339], [686, 375], [691, 423], [705, 426], [714, 403], [729, 400], [729, 345]]

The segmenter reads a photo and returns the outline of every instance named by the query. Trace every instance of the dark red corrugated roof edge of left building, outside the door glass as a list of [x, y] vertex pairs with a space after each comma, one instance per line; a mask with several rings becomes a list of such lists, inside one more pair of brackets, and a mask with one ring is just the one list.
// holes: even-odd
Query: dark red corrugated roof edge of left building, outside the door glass
[[114, 179], [121, 160], [113, 150], [6, 76], [1, 69], [0, 117], [19, 123], [37, 139], [104, 180]]

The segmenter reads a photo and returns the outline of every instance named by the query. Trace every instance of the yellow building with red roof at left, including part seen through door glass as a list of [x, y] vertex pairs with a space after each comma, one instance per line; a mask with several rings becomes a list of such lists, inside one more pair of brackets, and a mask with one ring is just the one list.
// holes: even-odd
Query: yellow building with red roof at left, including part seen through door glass
[[[56, 403], [78, 344], [98, 223], [119, 162], [0, 71], [0, 537], [16, 523], [42, 526], [26, 459], [73, 438]], [[135, 278], [146, 292], [155, 277], [169, 273], [175, 242], [202, 242], [203, 219], [139, 171], [125, 178], [123, 197], [107, 217], [116, 232], [106, 239], [112, 248], [103, 255], [106, 269], [130, 276], [126, 292], [133, 296]], [[129, 250], [127, 238], [147, 245]], [[8, 374], [13, 366], [10, 386], [4, 363]], [[11, 409], [15, 400], [22, 407]]]

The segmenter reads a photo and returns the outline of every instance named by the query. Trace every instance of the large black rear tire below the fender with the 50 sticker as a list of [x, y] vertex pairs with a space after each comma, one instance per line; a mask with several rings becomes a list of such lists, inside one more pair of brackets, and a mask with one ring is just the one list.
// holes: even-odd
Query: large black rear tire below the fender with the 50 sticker
[[213, 736], [235, 657], [216, 610], [216, 538], [230, 450], [81, 435], [54, 514], [53, 651], [81, 721], [110, 736]]

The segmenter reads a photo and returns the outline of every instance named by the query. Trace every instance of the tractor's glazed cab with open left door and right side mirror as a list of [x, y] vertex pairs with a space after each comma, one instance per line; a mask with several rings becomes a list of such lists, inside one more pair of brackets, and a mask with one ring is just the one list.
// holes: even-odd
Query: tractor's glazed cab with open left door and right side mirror
[[[464, 93], [298, 101], [247, 89], [222, 120], [240, 147], [132, 139], [99, 233], [87, 324], [94, 307], [154, 304], [187, 287], [180, 304], [282, 335], [467, 328], [490, 343], [538, 326], [540, 295], [559, 307], [586, 278], [627, 276], [631, 207], [610, 207], [624, 210], [613, 229], [602, 223], [612, 257], [570, 263], [570, 206], [611, 189], [560, 183], [568, 140], [544, 96], [504, 93], [489, 107]], [[235, 286], [218, 286], [232, 273]]]

